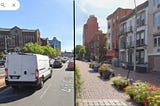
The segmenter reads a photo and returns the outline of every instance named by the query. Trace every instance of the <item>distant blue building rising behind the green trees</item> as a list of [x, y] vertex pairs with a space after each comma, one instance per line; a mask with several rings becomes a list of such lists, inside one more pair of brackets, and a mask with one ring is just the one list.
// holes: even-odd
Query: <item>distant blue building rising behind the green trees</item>
[[56, 37], [53, 37], [52, 40], [49, 40], [50, 46], [58, 49], [61, 52], [61, 41], [59, 41]]

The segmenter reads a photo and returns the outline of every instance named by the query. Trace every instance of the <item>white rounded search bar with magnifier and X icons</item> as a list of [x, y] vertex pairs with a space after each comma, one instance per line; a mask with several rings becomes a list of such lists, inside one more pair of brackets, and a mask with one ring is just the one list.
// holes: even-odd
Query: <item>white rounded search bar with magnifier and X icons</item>
[[18, 0], [0, 0], [0, 10], [17, 10], [19, 7]]

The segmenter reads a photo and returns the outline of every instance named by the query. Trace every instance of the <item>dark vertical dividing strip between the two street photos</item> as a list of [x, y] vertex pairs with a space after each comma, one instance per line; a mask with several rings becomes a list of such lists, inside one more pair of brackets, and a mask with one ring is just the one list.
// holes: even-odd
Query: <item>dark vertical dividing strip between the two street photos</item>
[[75, 84], [75, 80], [76, 80], [76, 75], [75, 75], [75, 66], [76, 66], [76, 63], [75, 63], [75, 36], [76, 36], [76, 14], [75, 14], [75, 9], [76, 9], [76, 6], [75, 6], [75, 0], [73, 0], [73, 47], [74, 47], [74, 106], [76, 106], [76, 84]]

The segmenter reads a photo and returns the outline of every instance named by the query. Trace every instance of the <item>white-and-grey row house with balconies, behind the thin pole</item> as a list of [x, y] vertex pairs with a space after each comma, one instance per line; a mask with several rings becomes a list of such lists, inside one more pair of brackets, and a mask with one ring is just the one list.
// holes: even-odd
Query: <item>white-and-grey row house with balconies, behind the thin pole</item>
[[[133, 69], [136, 56], [136, 70], [148, 69], [148, 1], [120, 21], [119, 59]], [[136, 52], [134, 52], [136, 46]]]

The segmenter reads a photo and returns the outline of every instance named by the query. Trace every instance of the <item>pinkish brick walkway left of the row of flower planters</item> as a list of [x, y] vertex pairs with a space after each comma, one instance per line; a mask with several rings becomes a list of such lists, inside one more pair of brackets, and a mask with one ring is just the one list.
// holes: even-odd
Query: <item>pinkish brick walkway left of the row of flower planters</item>
[[96, 106], [136, 106], [133, 102], [129, 102], [130, 99], [124, 91], [114, 88], [111, 80], [103, 80], [99, 77], [99, 73], [94, 73], [89, 64], [80, 61], [76, 61], [76, 64], [80, 67], [81, 79], [84, 81], [80, 106], [95, 106], [97, 100], [101, 101], [100, 103], [105, 101], [106, 104]]

